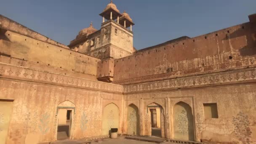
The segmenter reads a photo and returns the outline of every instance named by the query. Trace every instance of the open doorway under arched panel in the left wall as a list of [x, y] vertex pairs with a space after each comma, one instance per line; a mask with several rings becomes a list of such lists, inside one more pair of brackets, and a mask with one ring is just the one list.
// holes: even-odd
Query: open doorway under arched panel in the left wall
[[71, 101], [63, 101], [58, 104], [57, 117], [57, 140], [70, 139], [72, 134], [72, 123], [74, 121], [75, 104]]

